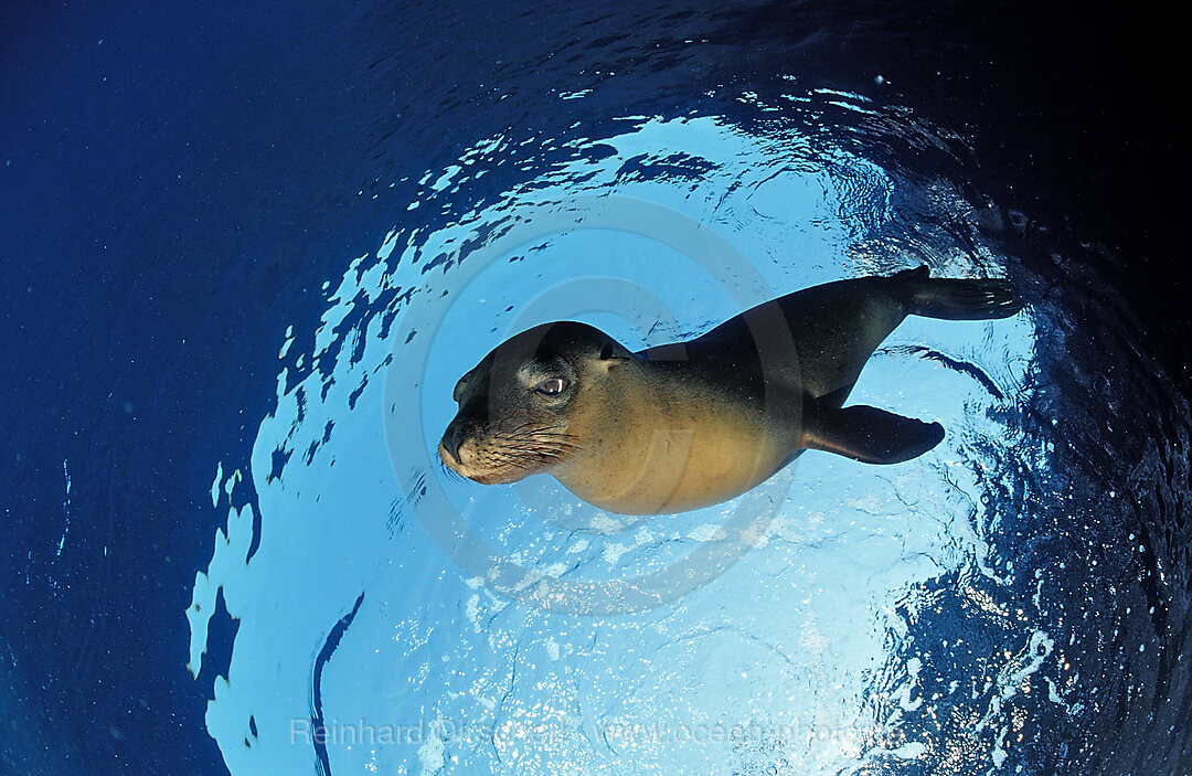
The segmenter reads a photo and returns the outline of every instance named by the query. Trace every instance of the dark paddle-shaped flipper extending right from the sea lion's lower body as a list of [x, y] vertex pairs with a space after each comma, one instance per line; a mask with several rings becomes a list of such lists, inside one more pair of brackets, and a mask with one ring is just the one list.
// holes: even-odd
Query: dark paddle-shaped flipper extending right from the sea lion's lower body
[[900, 464], [944, 439], [944, 427], [858, 404], [843, 410], [808, 402], [801, 446], [865, 464]]

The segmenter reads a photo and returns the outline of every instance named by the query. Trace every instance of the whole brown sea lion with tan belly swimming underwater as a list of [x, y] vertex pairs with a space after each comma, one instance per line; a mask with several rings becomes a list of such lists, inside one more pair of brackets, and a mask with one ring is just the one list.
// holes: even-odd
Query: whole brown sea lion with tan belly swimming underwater
[[623, 515], [727, 501], [803, 449], [896, 464], [944, 429], [843, 408], [874, 349], [908, 315], [1004, 318], [1022, 306], [1006, 280], [919, 267], [797, 291], [638, 353], [584, 323], [542, 324], [460, 378], [439, 455], [482, 484], [547, 473]]

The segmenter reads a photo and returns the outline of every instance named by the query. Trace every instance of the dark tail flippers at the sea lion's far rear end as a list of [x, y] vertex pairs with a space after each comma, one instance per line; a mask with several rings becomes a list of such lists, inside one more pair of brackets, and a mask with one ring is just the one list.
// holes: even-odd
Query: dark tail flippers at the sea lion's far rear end
[[906, 284], [907, 312], [949, 321], [1008, 318], [1023, 309], [1023, 300], [1008, 280], [987, 278], [955, 280], [927, 277], [926, 267], [894, 275]]

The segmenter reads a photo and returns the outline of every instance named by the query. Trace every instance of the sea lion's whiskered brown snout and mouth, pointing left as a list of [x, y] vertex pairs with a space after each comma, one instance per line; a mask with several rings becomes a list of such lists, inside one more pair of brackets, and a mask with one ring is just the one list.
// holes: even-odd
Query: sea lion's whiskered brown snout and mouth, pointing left
[[482, 485], [505, 485], [548, 471], [578, 448], [571, 434], [530, 424], [452, 441], [448, 447], [445, 435], [439, 442], [443, 465]]

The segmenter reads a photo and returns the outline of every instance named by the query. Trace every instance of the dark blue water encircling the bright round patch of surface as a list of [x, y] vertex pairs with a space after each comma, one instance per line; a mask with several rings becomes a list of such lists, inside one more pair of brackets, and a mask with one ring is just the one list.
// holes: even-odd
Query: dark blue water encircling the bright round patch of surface
[[[982, 612], [1020, 609], [1068, 638], [1006, 700], [1030, 724], [982, 741], [997, 733], [994, 772], [1187, 771], [1190, 327], [1162, 19], [970, 4], [15, 4], [2, 19], [4, 772], [224, 772], [204, 713], [237, 626], [217, 613], [194, 678], [182, 613], [226, 522], [213, 466], [247, 470], [286, 328], [312, 336], [324, 283], [406, 217], [424, 170], [502, 132], [536, 138], [546, 169], [577, 122], [601, 137], [625, 116], [846, 149], [914, 184], [883, 238], [1011, 257], [1044, 336], [1013, 408], [1023, 436], [973, 451], [995, 493], [974, 529], [1002, 584], [939, 578], [930, 607], [908, 592], [890, 653], [923, 666], [921, 697], [980, 694], [1000, 627]], [[817, 89], [873, 110], [783, 98]], [[524, 175], [496, 166], [417, 225]], [[939, 221], [942, 191], [963, 217]], [[1047, 467], [1023, 463], [1036, 449]], [[979, 720], [908, 706], [926, 753], [858, 772], [988, 772], [945, 759]]]

